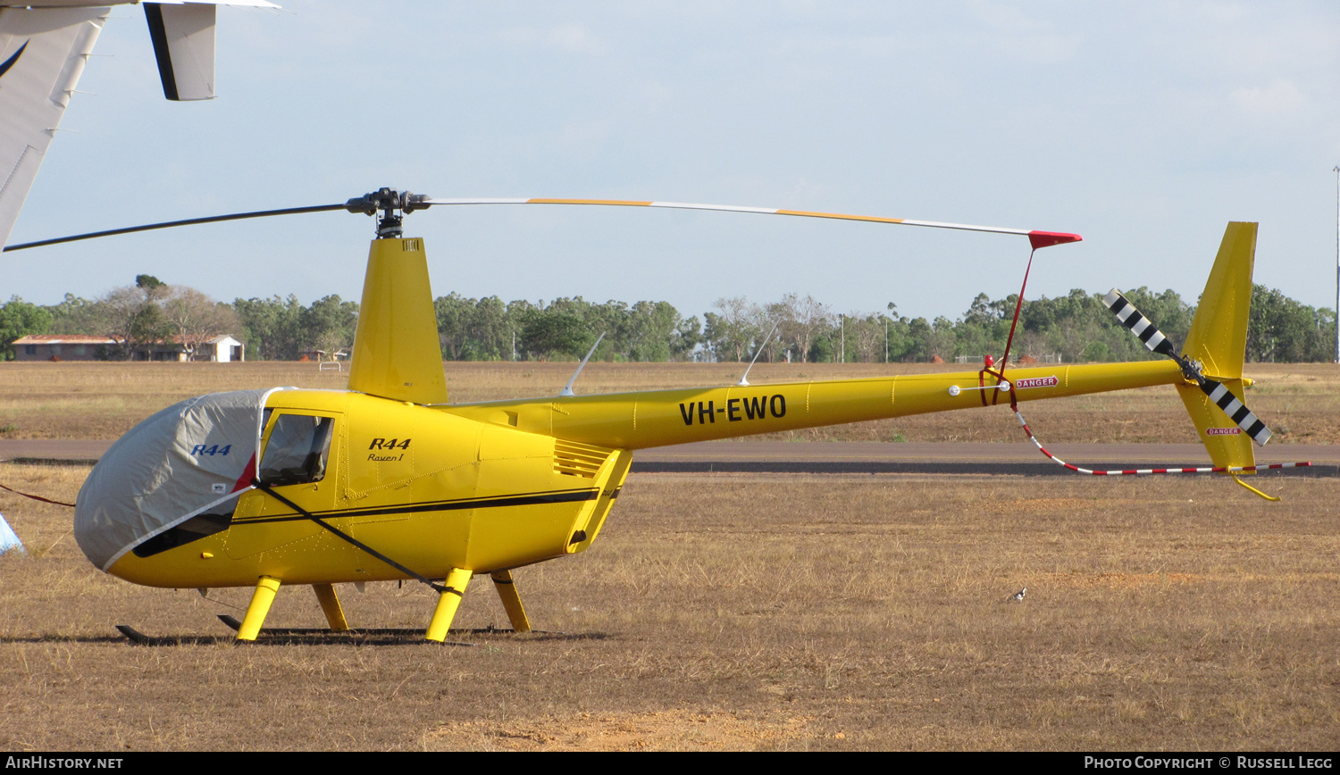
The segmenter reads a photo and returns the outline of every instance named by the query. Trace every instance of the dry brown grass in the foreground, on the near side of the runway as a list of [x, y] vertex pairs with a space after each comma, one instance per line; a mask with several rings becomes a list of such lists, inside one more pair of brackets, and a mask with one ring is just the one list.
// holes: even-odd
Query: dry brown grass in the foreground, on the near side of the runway
[[[83, 468], [0, 464], [72, 498]], [[517, 572], [537, 626], [476, 648], [236, 645], [245, 590], [94, 570], [0, 494], [0, 747], [1333, 750], [1340, 482], [638, 475], [595, 547]], [[460, 626], [503, 625], [484, 580]], [[1002, 602], [1028, 586], [1021, 604]], [[417, 585], [342, 586], [422, 626]], [[236, 613], [236, 612], [234, 612]], [[204, 636], [133, 647], [118, 622]], [[311, 626], [283, 589], [272, 625]]]

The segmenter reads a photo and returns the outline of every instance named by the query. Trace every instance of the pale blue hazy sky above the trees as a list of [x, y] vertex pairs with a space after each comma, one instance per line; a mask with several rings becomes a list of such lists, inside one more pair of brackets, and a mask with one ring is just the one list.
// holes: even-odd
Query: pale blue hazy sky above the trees
[[[434, 197], [710, 202], [1076, 232], [1028, 297], [1194, 301], [1229, 221], [1257, 282], [1335, 307], [1340, 5], [379, 1], [218, 11], [217, 92], [162, 98], [118, 7], [11, 244], [382, 186]], [[0, 297], [149, 273], [216, 298], [358, 298], [364, 216], [326, 213], [9, 253]], [[1018, 290], [1022, 237], [772, 216], [436, 207], [434, 296], [812, 294], [961, 316]]]

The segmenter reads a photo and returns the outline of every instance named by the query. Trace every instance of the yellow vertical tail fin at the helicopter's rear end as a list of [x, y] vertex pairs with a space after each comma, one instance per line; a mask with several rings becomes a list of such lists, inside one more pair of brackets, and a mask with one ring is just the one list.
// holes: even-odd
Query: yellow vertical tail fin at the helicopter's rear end
[[[1242, 360], [1252, 308], [1252, 265], [1256, 260], [1256, 224], [1229, 224], [1219, 254], [1210, 269], [1201, 304], [1191, 321], [1182, 355], [1203, 365], [1202, 373], [1242, 402]], [[1195, 384], [1177, 385], [1201, 443], [1215, 466], [1253, 466], [1252, 436], [1242, 431]], [[1225, 403], [1231, 399], [1225, 399]]]

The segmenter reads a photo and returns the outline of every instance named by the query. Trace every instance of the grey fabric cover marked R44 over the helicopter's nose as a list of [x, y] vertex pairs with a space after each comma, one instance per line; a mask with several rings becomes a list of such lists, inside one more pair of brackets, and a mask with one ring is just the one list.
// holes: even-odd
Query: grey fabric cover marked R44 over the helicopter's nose
[[107, 570], [139, 543], [245, 491], [271, 392], [197, 396], [113, 444], [75, 502], [75, 539], [88, 559]]

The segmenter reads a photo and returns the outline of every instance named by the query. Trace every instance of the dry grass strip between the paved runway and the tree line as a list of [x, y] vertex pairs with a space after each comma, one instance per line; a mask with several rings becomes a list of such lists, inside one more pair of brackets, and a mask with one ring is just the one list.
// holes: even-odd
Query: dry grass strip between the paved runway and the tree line
[[[454, 402], [556, 395], [572, 363], [449, 363]], [[836, 379], [962, 371], [927, 364], [758, 364], [750, 381]], [[583, 394], [730, 384], [741, 364], [594, 363]], [[1276, 431], [1274, 443], [1340, 443], [1340, 367], [1250, 364], [1250, 406]], [[114, 439], [159, 408], [194, 395], [273, 385], [343, 388], [347, 375], [315, 364], [0, 363], [0, 438]], [[1170, 387], [1043, 402], [1026, 416], [1051, 443], [1183, 442], [1195, 431]], [[801, 440], [1013, 442], [1008, 411], [949, 412], [775, 434]]]

